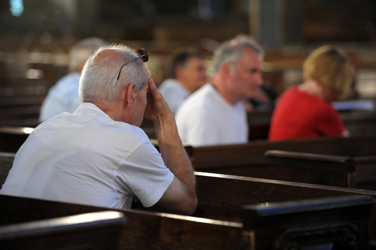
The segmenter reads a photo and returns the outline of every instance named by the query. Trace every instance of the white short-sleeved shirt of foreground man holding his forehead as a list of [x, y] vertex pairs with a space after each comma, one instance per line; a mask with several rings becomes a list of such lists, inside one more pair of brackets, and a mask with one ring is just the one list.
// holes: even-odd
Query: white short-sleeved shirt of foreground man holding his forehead
[[148, 207], [173, 177], [142, 129], [84, 103], [34, 129], [0, 193], [120, 209], [134, 194]]

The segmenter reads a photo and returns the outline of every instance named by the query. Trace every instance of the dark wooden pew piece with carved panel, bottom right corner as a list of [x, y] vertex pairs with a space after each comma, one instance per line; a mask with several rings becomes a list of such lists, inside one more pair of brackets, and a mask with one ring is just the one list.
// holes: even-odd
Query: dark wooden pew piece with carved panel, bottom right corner
[[[353, 201], [354, 204], [359, 205], [363, 202], [369, 202], [361, 197]], [[353, 241], [358, 233], [367, 235], [367, 231], [359, 231], [362, 226], [351, 225], [351, 221], [358, 214], [353, 214], [351, 209], [331, 209], [331, 213], [324, 213], [321, 210], [326, 206], [329, 208], [341, 203], [345, 205], [347, 202], [346, 198], [336, 198], [335, 200], [326, 198], [282, 204], [248, 205], [244, 209], [244, 231], [249, 233], [251, 249], [255, 248], [256, 242], [257, 246], [263, 249], [306, 249], [306, 247], [308, 249], [367, 249], [366, 241], [364, 243]], [[363, 212], [368, 214], [368, 209], [366, 208]], [[299, 213], [300, 216], [296, 216], [296, 213]], [[258, 217], [249, 219], [253, 218], [249, 215], [254, 214], [257, 214]], [[320, 219], [327, 222], [316, 224], [317, 221], [312, 220], [312, 216], [317, 216], [317, 214], [321, 214]], [[341, 219], [338, 219], [339, 217]], [[336, 224], [341, 220], [342, 222], [343, 220], [347, 221], [345, 222], [346, 226]], [[366, 223], [366, 221], [361, 223], [364, 222]], [[287, 227], [286, 224], [288, 224]], [[302, 224], [306, 227], [301, 227]], [[283, 233], [276, 239], [275, 231], [282, 231]], [[335, 235], [335, 237], [331, 237], [331, 235]]]

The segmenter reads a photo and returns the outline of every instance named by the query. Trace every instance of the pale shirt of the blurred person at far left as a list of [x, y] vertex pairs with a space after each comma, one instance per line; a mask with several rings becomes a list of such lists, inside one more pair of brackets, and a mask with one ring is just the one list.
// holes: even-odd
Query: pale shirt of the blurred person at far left
[[39, 120], [44, 122], [63, 112], [73, 113], [80, 106], [78, 86], [80, 74], [72, 72], [61, 78], [50, 88], [42, 103]]

